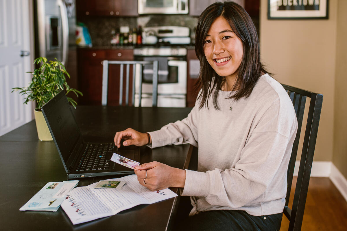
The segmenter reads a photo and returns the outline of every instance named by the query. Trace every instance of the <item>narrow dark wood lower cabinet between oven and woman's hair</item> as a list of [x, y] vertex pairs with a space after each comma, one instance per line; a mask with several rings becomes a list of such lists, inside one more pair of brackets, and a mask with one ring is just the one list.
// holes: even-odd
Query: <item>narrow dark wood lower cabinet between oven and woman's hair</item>
[[198, 81], [200, 62], [195, 55], [194, 49], [187, 50], [187, 107], [193, 107], [197, 93], [195, 85]]

